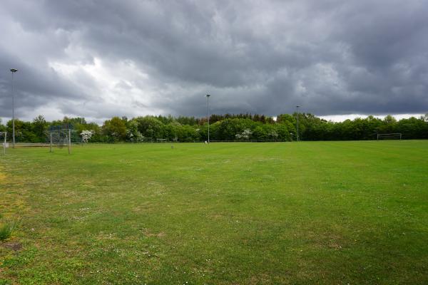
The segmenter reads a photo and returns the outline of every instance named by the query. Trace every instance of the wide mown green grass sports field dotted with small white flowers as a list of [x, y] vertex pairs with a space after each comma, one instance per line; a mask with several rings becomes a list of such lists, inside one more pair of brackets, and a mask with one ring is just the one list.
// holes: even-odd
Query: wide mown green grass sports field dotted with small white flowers
[[428, 284], [428, 141], [0, 156], [0, 284]]

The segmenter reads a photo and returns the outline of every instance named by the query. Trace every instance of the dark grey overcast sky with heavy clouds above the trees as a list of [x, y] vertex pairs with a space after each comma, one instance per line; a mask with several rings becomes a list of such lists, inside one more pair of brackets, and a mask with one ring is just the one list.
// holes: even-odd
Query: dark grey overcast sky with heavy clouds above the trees
[[206, 93], [212, 113], [427, 113], [427, 15], [424, 0], [2, 0], [0, 117], [10, 68], [26, 120], [202, 116]]

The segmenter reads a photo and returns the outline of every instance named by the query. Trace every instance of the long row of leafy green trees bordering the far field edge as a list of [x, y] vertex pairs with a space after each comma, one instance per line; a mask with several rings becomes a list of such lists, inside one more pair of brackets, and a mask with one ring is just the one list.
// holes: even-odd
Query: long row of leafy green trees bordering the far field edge
[[[428, 114], [420, 118], [396, 120], [368, 116], [340, 123], [323, 120], [310, 113], [299, 113], [300, 140], [375, 140], [377, 133], [402, 133], [403, 139], [428, 138]], [[15, 119], [16, 142], [49, 142], [53, 126], [73, 126], [72, 141], [81, 142], [194, 142], [208, 140], [208, 118], [146, 115], [128, 119], [113, 117], [103, 125], [88, 123], [85, 118], [68, 118], [48, 122], [42, 115], [31, 122]], [[268, 141], [297, 138], [297, 113], [277, 115], [276, 120], [258, 114], [210, 116], [210, 140]], [[0, 132], [11, 141], [12, 121], [2, 124]], [[90, 132], [88, 132], [90, 131]], [[88, 135], [89, 133], [89, 135]]]

